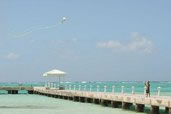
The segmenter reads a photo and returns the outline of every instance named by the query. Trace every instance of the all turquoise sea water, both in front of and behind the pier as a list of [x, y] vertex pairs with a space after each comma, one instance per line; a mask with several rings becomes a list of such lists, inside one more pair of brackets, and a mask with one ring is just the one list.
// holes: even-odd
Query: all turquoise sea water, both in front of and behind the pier
[[[58, 83], [54, 83], [58, 85]], [[93, 91], [96, 91], [97, 85], [100, 91], [104, 91], [104, 85], [107, 86], [107, 92], [112, 91], [115, 86], [115, 92], [121, 92], [121, 86], [124, 86], [125, 93], [131, 93], [132, 86], [135, 86], [136, 94], [143, 94], [144, 82], [65, 82], [61, 83], [67, 88], [89, 91], [92, 85]], [[0, 83], [0, 86], [44, 86], [45, 83]], [[171, 96], [171, 82], [151, 82], [152, 95], [157, 94], [157, 87], [161, 87], [161, 95]], [[28, 95], [26, 91], [20, 91], [19, 95], [8, 95], [7, 92], [1, 91], [0, 94], [0, 114], [136, 114], [135, 111], [127, 111], [110, 107], [103, 107], [90, 103], [79, 103], [62, 99], [55, 99], [46, 96]], [[145, 113], [149, 112], [147, 106]], [[164, 114], [164, 110], [161, 109]]]

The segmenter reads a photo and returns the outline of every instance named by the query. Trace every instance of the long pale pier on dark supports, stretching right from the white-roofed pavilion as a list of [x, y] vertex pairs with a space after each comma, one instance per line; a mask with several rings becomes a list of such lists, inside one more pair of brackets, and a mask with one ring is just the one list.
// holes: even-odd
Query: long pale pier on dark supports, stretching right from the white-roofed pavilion
[[34, 94], [45, 95], [54, 98], [73, 100], [111, 106], [113, 108], [122, 107], [129, 109], [135, 105], [137, 112], [144, 112], [145, 105], [151, 106], [151, 114], [159, 114], [160, 107], [165, 107], [165, 111], [171, 114], [171, 97], [107, 93], [107, 92], [88, 92], [78, 90], [57, 90], [46, 89], [44, 87], [34, 87]]

